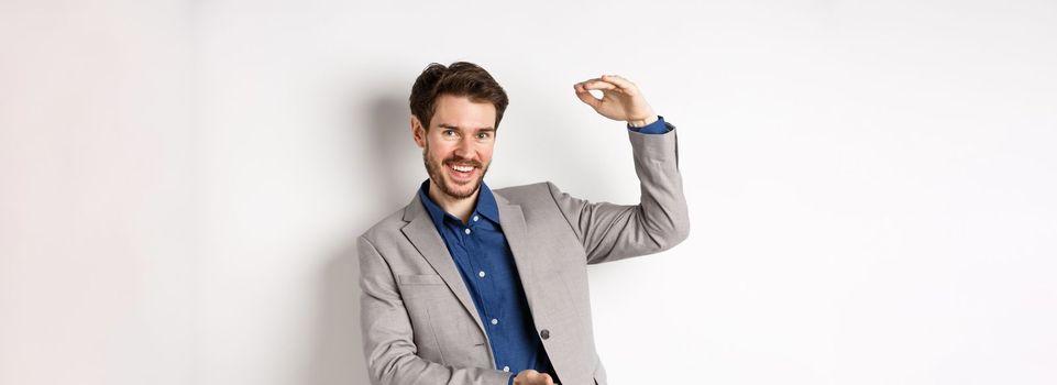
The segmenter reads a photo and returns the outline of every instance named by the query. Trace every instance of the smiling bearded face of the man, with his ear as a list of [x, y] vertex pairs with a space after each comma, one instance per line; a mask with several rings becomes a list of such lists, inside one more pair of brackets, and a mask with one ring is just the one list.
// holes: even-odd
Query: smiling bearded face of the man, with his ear
[[432, 185], [450, 198], [470, 198], [492, 164], [495, 106], [442, 95], [434, 107], [429, 130], [411, 117], [415, 143], [422, 148]]

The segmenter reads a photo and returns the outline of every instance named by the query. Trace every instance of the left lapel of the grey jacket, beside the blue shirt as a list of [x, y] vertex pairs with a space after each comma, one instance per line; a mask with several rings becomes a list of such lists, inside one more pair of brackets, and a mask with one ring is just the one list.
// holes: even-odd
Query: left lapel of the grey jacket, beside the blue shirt
[[429, 212], [422, 207], [422, 202], [419, 200], [418, 195], [411, 200], [411, 204], [404, 209], [404, 220], [409, 221], [400, 231], [407, 237], [415, 249], [426, 257], [437, 274], [440, 275], [444, 283], [462, 306], [466, 308], [470, 316], [477, 321], [477, 327], [484, 331], [484, 323], [481, 322], [481, 318], [477, 316], [476, 307], [473, 305], [473, 299], [470, 298], [470, 290], [466, 289], [466, 284], [462, 280], [462, 275], [459, 273], [459, 267], [455, 266], [455, 261], [452, 260], [451, 253], [448, 252], [448, 246], [444, 245], [444, 240], [440, 238], [440, 233], [437, 232], [437, 228], [433, 226], [432, 220], [429, 218]]

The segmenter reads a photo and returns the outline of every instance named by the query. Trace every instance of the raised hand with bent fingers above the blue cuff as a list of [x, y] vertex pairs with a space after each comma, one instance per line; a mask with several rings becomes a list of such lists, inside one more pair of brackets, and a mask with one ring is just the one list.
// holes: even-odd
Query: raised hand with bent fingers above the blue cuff
[[[599, 78], [584, 80], [573, 85], [580, 100], [595, 109], [598, 114], [627, 121], [631, 127], [643, 127], [657, 121], [653, 108], [646, 102], [642, 91], [623, 77], [603, 75]], [[588, 90], [602, 90], [602, 99], [591, 95]]]

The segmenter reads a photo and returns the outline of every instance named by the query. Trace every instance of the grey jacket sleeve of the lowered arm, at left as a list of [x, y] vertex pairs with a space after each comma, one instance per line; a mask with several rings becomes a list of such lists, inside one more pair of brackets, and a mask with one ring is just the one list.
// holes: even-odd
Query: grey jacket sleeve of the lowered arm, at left
[[359, 240], [363, 354], [373, 385], [506, 385], [510, 373], [450, 367], [416, 355], [414, 331], [389, 265], [366, 238]]

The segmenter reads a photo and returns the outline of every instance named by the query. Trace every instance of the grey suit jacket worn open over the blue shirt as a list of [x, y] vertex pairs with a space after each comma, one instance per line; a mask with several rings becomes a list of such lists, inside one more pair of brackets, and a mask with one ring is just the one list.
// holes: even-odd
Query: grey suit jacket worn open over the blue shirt
[[[532, 318], [563, 385], [606, 384], [595, 352], [587, 271], [667, 250], [690, 220], [674, 127], [630, 132], [641, 202], [570, 197], [550, 183], [496, 189], [499, 221]], [[371, 383], [506, 385], [470, 292], [418, 195], [359, 243], [363, 350]]]

